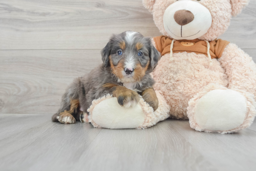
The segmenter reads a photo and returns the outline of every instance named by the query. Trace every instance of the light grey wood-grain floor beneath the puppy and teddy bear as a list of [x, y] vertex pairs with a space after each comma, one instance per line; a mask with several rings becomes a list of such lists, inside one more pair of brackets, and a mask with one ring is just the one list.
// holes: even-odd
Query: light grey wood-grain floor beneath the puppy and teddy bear
[[[20, 120], [21, 122], [17, 122]], [[4, 125], [3, 125], [4, 123]], [[251, 128], [256, 127], [256, 122]], [[144, 130], [61, 124], [50, 115], [0, 114], [1, 170], [255, 170], [256, 131], [197, 132], [189, 122]]]

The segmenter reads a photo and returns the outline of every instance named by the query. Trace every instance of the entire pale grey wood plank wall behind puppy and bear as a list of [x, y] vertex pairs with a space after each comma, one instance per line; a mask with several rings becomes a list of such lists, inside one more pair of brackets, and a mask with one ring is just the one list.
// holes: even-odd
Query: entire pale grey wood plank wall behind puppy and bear
[[[256, 1], [220, 38], [256, 61]], [[159, 36], [141, 0], [1, 0], [0, 113], [53, 114], [71, 81], [101, 63], [113, 33]]]

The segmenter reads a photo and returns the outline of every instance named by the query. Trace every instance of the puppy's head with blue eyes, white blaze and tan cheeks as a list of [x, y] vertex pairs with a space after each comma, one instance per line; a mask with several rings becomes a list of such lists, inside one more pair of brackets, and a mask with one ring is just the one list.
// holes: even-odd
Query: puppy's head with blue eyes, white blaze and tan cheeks
[[123, 82], [140, 81], [161, 57], [150, 38], [133, 31], [113, 35], [101, 55], [105, 67]]

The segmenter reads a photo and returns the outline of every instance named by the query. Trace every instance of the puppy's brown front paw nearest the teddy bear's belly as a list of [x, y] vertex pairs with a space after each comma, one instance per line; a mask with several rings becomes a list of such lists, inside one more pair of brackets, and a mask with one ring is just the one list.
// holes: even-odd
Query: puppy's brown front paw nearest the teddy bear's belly
[[142, 98], [147, 102], [154, 111], [158, 108], [158, 98], [153, 88], [148, 88], [142, 92]]

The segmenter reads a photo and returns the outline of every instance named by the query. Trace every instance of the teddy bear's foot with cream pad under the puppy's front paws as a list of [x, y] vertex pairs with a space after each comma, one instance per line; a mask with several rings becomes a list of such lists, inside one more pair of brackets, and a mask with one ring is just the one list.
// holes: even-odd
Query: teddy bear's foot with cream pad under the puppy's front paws
[[92, 102], [87, 110], [89, 112], [89, 122], [95, 128], [108, 129], [145, 129], [155, 125], [157, 122], [169, 117], [169, 106], [162, 97], [156, 92], [159, 106], [156, 111], [147, 104], [143, 98], [135, 107], [121, 107], [116, 97], [108, 94]]

